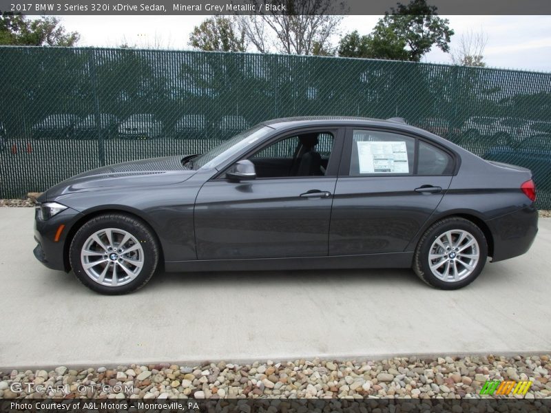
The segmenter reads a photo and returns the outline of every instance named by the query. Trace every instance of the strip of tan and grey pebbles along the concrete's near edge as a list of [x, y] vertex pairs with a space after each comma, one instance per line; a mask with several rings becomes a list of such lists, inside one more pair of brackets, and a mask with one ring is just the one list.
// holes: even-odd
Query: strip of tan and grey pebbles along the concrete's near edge
[[[445, 399], [479, 397], [490, 380], [533, 381], [527, 399], [551, 398], [549, 354], [499, 357], [395, 357], [379, 361], [295, 360], [245, 366], [205, 363], [0, 372], [0, 398], [195, 399], [318, 397]], [[12, 383], [23, 392], [12, 392]], [[27, 385], [32, 383], [33, 385]], [[36, 390], [65, 385], [68, 391]], [[127, 387], [125, 392], [124, 386]], [[64, 388], [64, 389], [65, 389]], [[132, 390], [133, 388], [133, 390]], [[10, 390], [12, 389], [12, 390]], [[17, 388], [15, 390], [18, 390]], [[30, 391], [28, 391], [30, 390]], [[49, 394], [48, 394], [49, 392]], [[521, 398], [522, 396], [516, 396]]]

